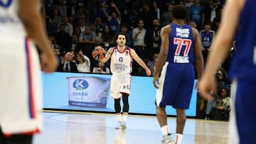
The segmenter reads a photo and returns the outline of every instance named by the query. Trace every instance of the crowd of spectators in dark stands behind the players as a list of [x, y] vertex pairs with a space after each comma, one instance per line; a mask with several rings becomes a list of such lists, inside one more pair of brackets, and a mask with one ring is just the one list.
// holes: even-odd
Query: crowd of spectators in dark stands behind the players
[[[206, 61], [210, 44], [218, 33], [225, 0], [44, 0], [46, 31], [60, 62], [58, 71], [110, 74], [110, 65], [94, 60], [92, 50], [98, 45], [106, 50], [115, 46], [114, 35], [123, 32], [129, 36], [126, 45], [137, 52], [154, 74], [161, 47], [161, 27], [171, 23], [171, 9], [176, 4], [187, 7], [187, 23], [200, 32]], [[228, 91], [226, 97], [229, 97], [226, 73], [234, 49], [235, 45], [230, 46], [230, 57], [220, 66], [220, 72], [216, 71], [218, 78], [225, 79], [216, 94], [219, 99], [208, 104], [198, 100], [198, 113], [203, 113], [203, 118], [213, 118], [215, 109], [222, 104], [220, 101], [227, 101], [222, 100], [225, 93], [222, 91]], [[132, 74], [146, 76], [136, 62], [132, 68]]]

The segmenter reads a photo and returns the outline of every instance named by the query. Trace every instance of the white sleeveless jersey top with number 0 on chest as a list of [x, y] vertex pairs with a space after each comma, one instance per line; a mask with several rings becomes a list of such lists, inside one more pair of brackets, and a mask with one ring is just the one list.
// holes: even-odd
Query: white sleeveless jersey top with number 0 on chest
[[117, 47], [114, 47], [110, 70], [112, 74], [130, 74], [132, 72], [132, 56], [129, 47], [126, 47], [123, 52], [120, 52]]

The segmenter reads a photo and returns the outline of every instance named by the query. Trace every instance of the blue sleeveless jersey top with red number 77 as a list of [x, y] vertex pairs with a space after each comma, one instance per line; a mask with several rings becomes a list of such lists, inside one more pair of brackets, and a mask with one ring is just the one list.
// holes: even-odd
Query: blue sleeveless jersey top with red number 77
[[171, 23], [171, 35], [169, 37], [169, 54], [166, 61], [170, 63], [193, 63], [193, 31], [191, 26], [178, 26]]

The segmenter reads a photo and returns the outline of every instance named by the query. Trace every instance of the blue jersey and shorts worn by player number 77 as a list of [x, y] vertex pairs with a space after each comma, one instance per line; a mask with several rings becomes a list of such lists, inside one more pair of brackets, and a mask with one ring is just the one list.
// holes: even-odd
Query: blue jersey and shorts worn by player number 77
[[195, 79], [191, 26], [171, 23], [169, 42], [169, 53], [156, 90], [156, 105], [188, 109]]

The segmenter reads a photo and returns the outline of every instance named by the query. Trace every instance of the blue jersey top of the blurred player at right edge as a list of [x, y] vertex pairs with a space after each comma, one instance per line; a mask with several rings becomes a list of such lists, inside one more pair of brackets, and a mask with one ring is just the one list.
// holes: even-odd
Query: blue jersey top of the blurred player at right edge
[[230, 78], [256, 80], [256, 1], [245, 1], [240, 17], [237, 49], [230, 67]]

